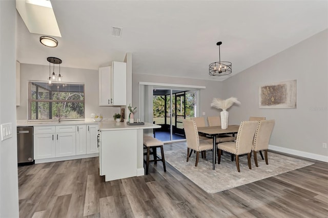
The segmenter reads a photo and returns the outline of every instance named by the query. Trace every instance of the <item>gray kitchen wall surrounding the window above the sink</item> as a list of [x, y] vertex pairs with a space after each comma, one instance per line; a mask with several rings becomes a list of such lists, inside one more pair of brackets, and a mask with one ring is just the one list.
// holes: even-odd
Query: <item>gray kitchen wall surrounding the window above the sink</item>
[[[57, 74], [56, 68], [55, 73]], [[63, 82], [85, 84], [86, 118], [90, 118], [91, 113], [100, 113], [104, 119], [113, 119], [114, 113], [120, 113], [120, 107], [117, 106], [98, 106], [99, 77], [97, 70], [62, 67], [60, 68], [60, 74], [63, 76]], [[28, 80], [47, 81], [48, 77], [49, 65], [20, 64], [20, 106], [17, 106], [17, 120], [28, 119]]]

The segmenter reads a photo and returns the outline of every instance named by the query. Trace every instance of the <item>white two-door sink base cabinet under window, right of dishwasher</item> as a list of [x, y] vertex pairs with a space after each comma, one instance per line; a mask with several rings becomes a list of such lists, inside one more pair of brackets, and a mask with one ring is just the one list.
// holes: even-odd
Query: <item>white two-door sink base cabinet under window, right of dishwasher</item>
[[75, 125], [34, 126], [34, 160], [75, 155]]

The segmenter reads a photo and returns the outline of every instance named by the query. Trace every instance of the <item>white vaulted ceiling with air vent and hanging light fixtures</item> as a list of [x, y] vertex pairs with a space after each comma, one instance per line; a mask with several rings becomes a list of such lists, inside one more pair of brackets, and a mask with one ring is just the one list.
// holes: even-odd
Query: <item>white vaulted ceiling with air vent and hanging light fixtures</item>
[[[133, 73], [222, 81], [328, 28], [328, 1], [51, 0], [58, 47], [39, 42], [17, 15], [17, 60], [98, 70], [133, 55]], [[111, 27], [121, 27], [121, 37]], [[233, 73], [209, 76], [218, 61]]]

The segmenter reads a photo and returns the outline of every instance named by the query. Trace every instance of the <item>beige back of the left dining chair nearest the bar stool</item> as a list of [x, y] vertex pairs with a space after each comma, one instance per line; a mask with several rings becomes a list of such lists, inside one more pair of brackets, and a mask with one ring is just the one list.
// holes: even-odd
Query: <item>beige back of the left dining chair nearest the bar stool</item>
[[187, 140], [187, 147], [199, 150], [199, 137], [196, 122], [194, 120], [182, 120], [183, 129]]

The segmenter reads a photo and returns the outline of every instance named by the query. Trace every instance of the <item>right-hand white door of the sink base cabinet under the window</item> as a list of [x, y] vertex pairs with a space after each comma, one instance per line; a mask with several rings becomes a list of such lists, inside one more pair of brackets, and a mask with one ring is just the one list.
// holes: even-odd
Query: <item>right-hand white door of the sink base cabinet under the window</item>
[[75, 133], [56, 133], [55, 156], [73, 156], [75, 151]]

